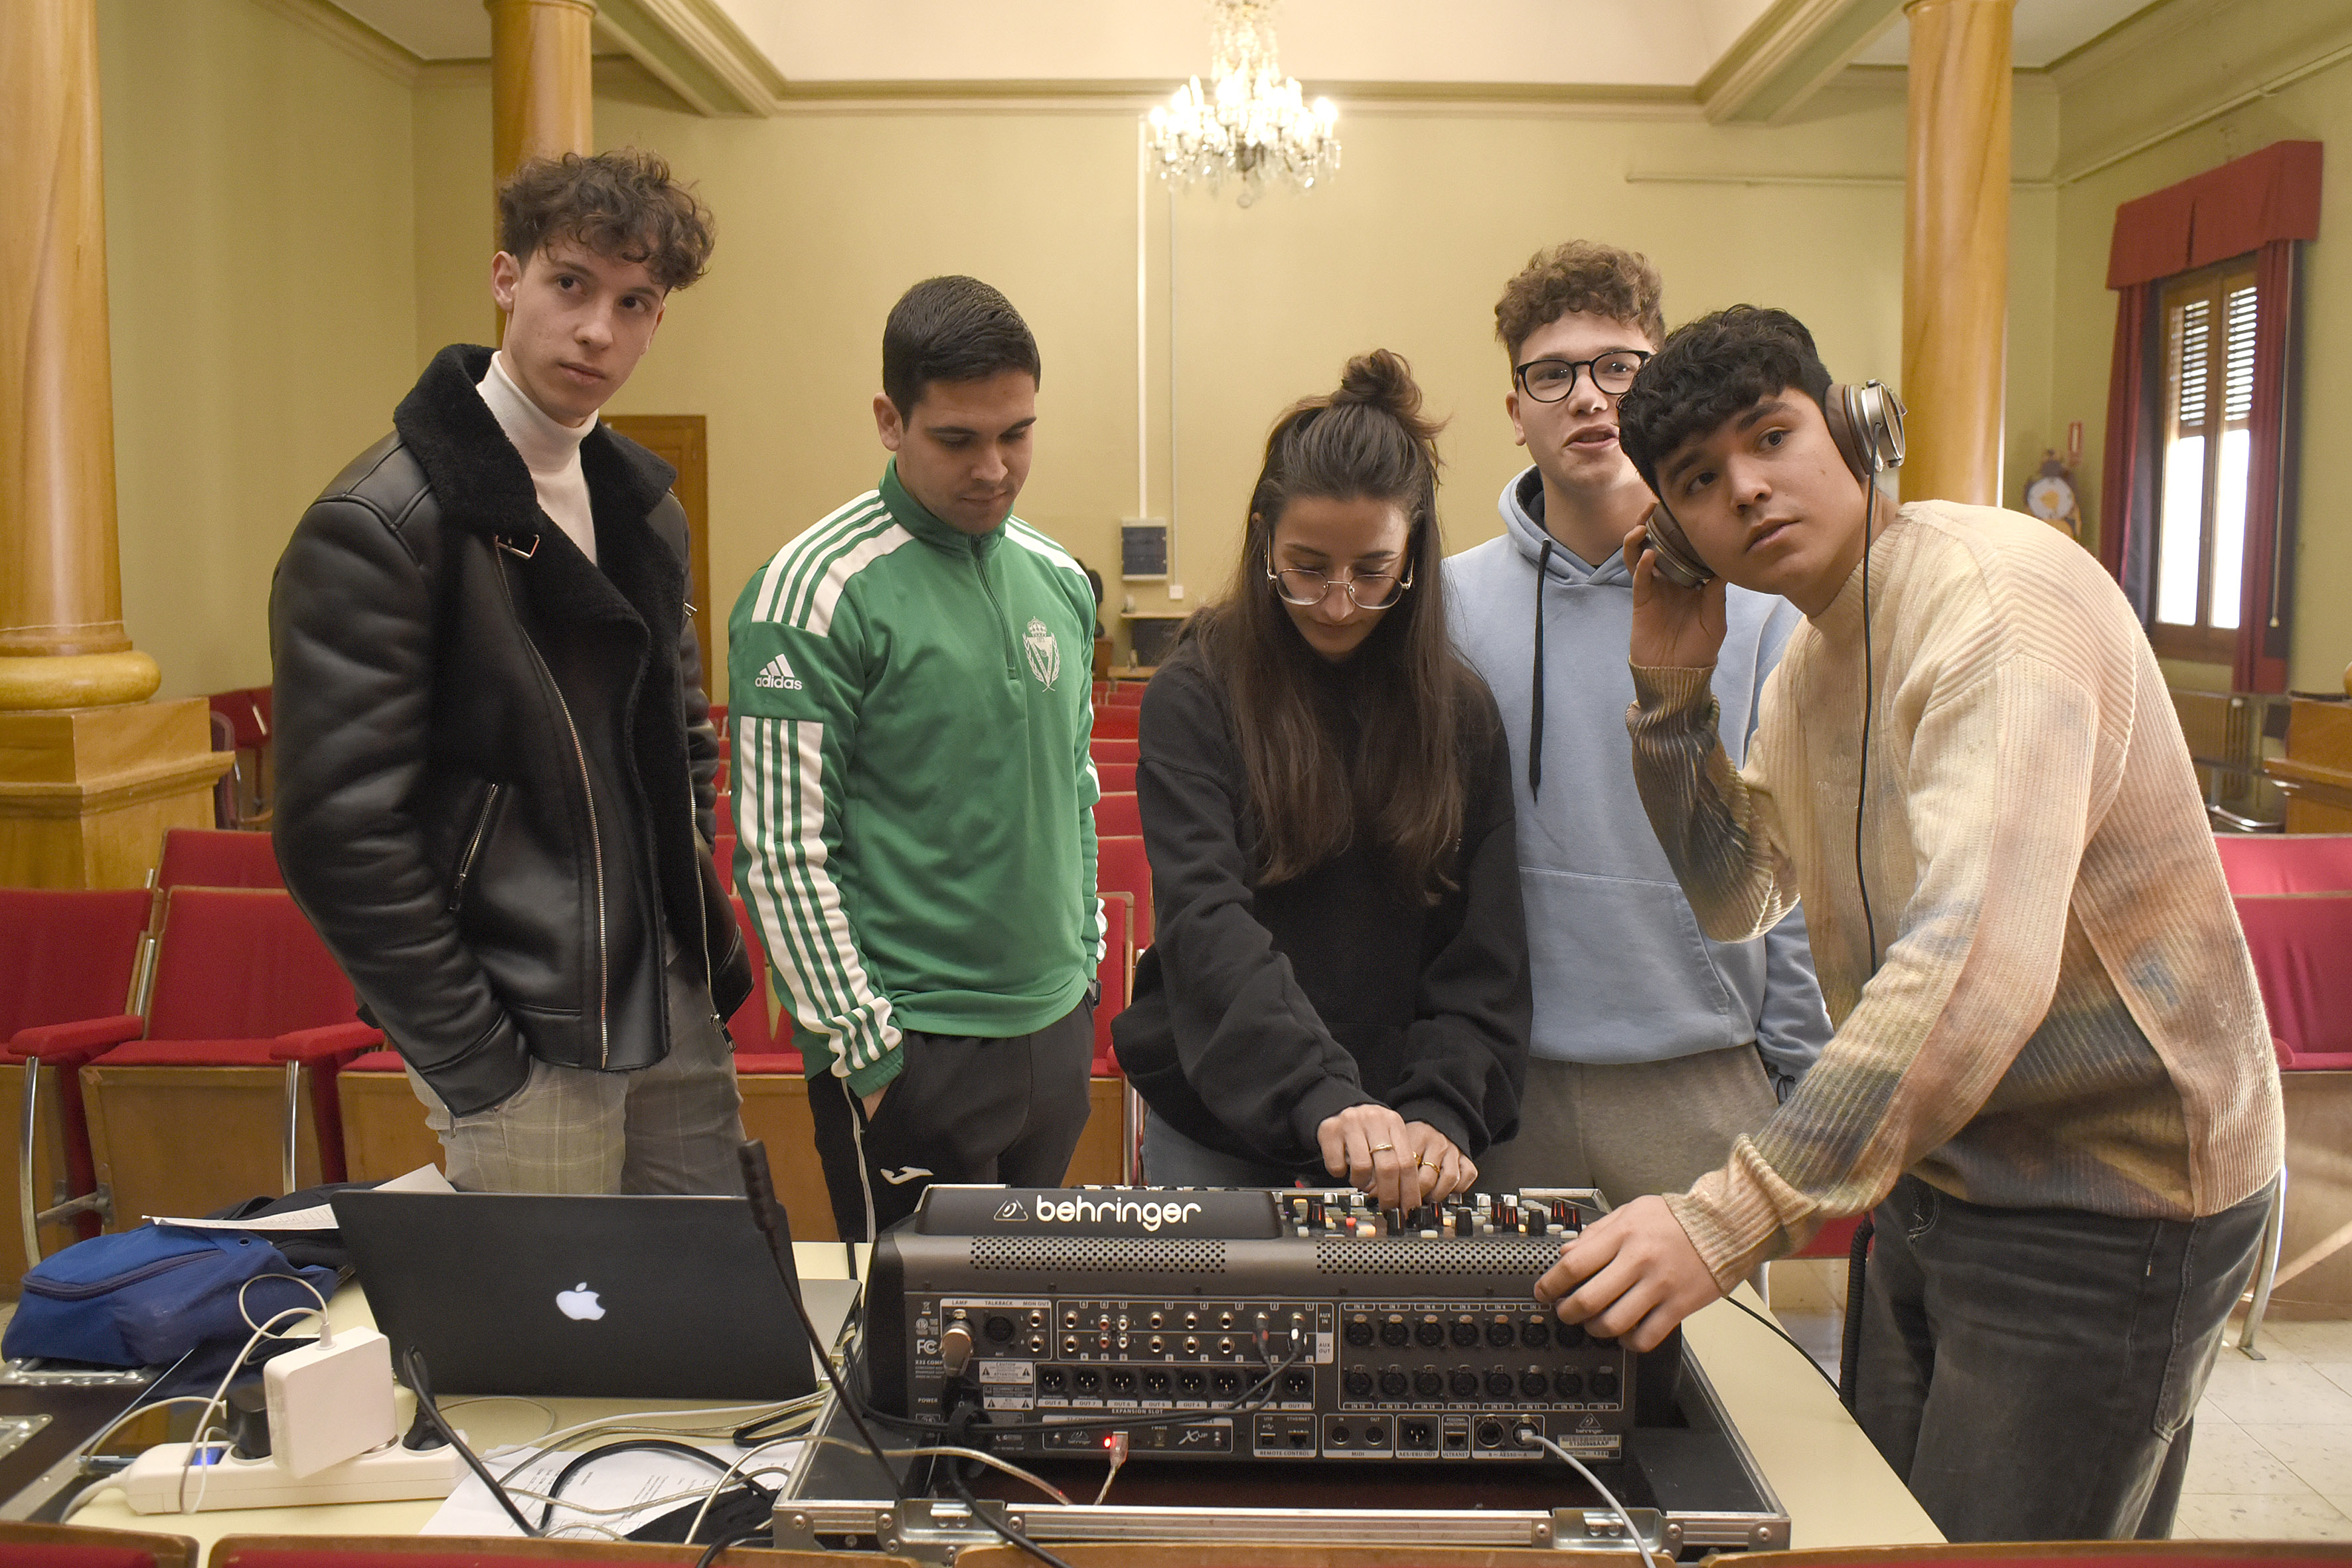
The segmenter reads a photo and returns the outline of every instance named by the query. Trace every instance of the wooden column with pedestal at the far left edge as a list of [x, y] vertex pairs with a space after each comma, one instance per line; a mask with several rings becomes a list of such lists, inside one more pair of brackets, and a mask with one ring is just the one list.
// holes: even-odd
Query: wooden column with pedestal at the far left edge
[[230, 759], [122, 632], [94, 0], [0, 5], [0, 884], [136, 886]]

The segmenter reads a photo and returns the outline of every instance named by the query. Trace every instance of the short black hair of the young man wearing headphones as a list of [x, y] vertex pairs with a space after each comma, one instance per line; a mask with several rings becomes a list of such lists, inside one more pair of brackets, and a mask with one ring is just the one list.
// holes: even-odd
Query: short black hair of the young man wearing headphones
[[1658, 489], [1658, 463], [1677, 447], [1710, 435], [1726, 418], [1802, 388], [1820, 404], [1830, 395], [1830, 367], [1788, 310], [1729, 306], [1675, 329], [1618, 400], [1618, 440]]

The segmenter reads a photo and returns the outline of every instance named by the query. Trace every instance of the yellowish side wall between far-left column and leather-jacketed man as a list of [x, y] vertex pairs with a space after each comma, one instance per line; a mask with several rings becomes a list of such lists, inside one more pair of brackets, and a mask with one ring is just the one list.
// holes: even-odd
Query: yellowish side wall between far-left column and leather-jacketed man
[[270, 677], [287, 529], [416, 376], [402, 82], [247, 0], [99, 0], [122, 621]]

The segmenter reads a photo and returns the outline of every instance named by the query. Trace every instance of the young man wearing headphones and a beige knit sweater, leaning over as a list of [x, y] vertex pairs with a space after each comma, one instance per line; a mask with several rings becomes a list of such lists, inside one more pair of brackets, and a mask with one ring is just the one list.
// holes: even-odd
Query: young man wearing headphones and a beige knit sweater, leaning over
[[[2147, 637], [2058, 531], [1882, 503], [1900, 404], [1832, 388], [1780, 310], [1679, 329], [1621, 421], [1661, 498], [1625, 541], [1642, 802], [1708, 936], [1804, 898], [1837, 1034], [1719, 1171], [1585, 1229], [1536, 1295], [1646, 1349], [1875, 1206], [1849, 1399], [1938, 1528], [2166, 1535], [2281, 1117]], [[1745, 766], [1708, 691], [1726, 581], [1806, 614]]]

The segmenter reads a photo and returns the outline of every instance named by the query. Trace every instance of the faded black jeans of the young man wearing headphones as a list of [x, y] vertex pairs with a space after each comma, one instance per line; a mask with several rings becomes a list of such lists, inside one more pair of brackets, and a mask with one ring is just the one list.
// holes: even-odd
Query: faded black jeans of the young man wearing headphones
[[1947, 1540], [2166, 1535], [2267, 1208], [1985, 1208], [1905, 1175], [1863, 1293], [1863, 1432]]

